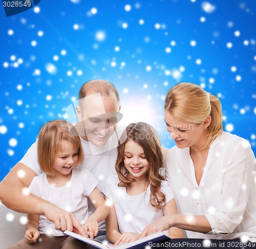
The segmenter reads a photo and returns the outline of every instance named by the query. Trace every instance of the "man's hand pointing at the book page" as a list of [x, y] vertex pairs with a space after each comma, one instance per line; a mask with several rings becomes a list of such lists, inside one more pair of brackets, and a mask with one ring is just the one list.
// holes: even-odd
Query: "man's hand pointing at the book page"
[[55, 228], [62, 232], [68, 230], [86, 236], [81, 224], [74, 214], [60, 209], [52, 203], [44, 204], [44, 214], [48, 220], [55, 223]]

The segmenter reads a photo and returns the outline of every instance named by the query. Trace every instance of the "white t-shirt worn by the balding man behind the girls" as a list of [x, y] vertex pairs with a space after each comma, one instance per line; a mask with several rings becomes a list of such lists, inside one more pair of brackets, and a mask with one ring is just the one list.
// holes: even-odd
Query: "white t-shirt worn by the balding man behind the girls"
[[[117, 158], [117, 148], [93, 155], [91, 148], [95, 146], [81, 138], [80, 140], [82, 143], [84, 160], [83, 163], [77, 167], [89, 170], [98, 180], [97, 188], [100, 192], [102, 192], [105, 180], [110, 175], [116, 174], [115, 164]], [[37, 175], [42, 173], [37, 161], [37, 140], [28, 149], [27, 153], [24, 155], [23, 159], [19, 161], [19, 163], [27, 165], [29, 168], [34, 170]], [[92, 214], [94, 211], [95, 208], [89, 200], [89, 213]], [[104, 221], [99, 223], [99, 230], [105, 230]]]

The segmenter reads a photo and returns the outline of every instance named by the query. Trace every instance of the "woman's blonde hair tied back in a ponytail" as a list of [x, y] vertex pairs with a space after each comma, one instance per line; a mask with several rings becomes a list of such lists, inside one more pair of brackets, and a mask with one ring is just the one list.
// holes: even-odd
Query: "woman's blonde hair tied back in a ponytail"
[[167, 93], [164, 108], [175, 119], [195, 124], [202, 123], [208, 116], [211, 117], [203, 149], [208, 148], [223, 131], [219, 98], [194, 83], [179, 83], [172, 87]]

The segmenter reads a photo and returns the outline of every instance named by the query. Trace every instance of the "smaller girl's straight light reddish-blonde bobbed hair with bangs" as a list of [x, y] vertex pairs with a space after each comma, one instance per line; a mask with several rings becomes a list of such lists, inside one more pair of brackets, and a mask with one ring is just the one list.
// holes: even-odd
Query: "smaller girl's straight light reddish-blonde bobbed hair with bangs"
[[46, 174], [53, 175], [55, 156], [61, 150], [63, 141], [70, 142], [74, 149], [78, 149], [78, 161], [75, 166], [82, 163], [83, 150], [75, 127], [64, 120], [53, 120], [40, 129], [37, 141], [38, 164]]

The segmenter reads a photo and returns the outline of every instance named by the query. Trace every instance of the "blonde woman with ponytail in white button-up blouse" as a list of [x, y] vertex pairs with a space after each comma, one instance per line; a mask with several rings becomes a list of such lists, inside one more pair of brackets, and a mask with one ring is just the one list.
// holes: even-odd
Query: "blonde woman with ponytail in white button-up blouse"
[[166, 178], [179, 214], [158, 219], [142, 236], [176, 227], [188, 238], [255, 240], [255, 157], [245, 139], [223, 131], [219, 99], [179, 83], [164, 108], [176, 143], [166, 156]]

